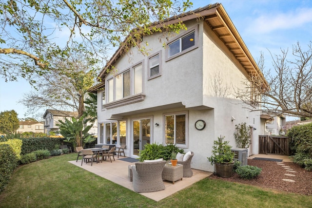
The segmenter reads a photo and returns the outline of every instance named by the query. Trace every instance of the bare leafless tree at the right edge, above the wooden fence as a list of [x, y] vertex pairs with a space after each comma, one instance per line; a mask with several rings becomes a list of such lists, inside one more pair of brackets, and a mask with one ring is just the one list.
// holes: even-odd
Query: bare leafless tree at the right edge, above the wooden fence
[[[266, 80], [250, 76], [245, 90], [237, 90], [236, 96], [251, 110], [266, 110], [274, 114], [298, 117], [312, 117], [312, 45], [303, 50], [299, 43], [292, 47], [292, 57], [288, 50], [281, 55], [272, 55], [273, 70], [264, 69], [261, 54], [259, 68]], [[260, 107], [260, 108], [259, 108]]]

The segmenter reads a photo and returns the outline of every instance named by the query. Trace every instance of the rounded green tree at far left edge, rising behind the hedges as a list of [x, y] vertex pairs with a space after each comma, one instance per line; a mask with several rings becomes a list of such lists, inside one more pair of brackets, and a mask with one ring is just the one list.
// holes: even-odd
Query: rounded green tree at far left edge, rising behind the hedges
[[18, 113], [16, 111], [3, 111], [0, 113], [0, 133], [14, 133], [20, 128]]

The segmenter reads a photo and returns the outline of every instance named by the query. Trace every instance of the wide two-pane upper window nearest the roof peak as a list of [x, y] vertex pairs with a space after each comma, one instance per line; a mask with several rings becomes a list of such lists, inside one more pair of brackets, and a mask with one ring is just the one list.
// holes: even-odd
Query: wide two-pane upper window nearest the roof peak
[[198, 47], [198, 26], [189, 29], [167, 43], [166, 60], [178, 57]]

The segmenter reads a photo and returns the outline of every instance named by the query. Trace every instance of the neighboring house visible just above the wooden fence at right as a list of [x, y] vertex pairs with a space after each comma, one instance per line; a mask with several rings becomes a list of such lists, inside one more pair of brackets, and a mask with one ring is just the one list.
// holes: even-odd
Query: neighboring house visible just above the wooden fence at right
[[266, 116], [268, 118], [265, 122], [263, 135], [284, 135], [286, 133], [286, 118], [283, 114], [274, 115], [265, 112], [262, 113], [261, 117]]

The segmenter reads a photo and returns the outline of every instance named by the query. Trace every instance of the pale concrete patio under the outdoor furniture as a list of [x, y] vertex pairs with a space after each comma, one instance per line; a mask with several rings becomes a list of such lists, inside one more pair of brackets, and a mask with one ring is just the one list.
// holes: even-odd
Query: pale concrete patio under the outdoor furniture
[[[124, 158], [124, 157], [121, 157]], [[119, 158], [119, 159], [121, 159]], [[94, 162], [91, 166], [91, 163], [83, 163], [81, 166], [81, 160], [76, 161], [68, 161], [69, 163], [78, 166], [79, 168], [82, 168], [84, 170], [88, 170], [90, 172], [93, 172], [94, 174], [97, 174], [100, 177], [103, 177], [107, 180], [110, 180], [120, 186], [123, 186], [127, 189], [133, 190], [132, 182], [130, 182], [128, 178], [128, 165], [135, 165], [135, 162], [130, 163], [126, 161], [122, 161], [115, 158], [115, 161], [112, 163], [110, 160], [103, 161], [102, 163], [96, 163]], [[153, 199], [155, 201], [160, 201], [177, 191], [181, 189], [185, 189], [188, 186], [191, 186], [197, 181], [200, 181], [209, 175], [213, 174], [212, 172], [202, 171], [202, 170], [193, 170], [193, 176], [192, 177], [184, 177], [183, 180], [176, 181], [175, 184], [172, 184], [172, 182], [164, 181], [166, 189], [156, 192], [148, 192], [148, 193], [140, 193], [143, 196], [146, 196], [150, 199]]]

